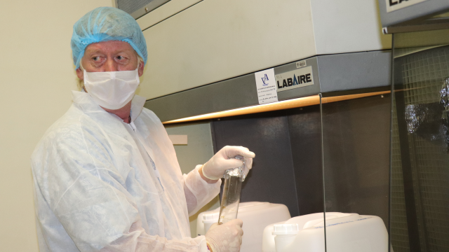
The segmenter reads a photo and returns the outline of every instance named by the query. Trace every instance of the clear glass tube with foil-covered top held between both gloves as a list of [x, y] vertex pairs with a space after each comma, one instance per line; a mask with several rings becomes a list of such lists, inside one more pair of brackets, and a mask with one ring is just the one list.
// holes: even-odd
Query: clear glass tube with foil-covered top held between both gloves
[[236, 155], [234, 158], [243, 161], [243, 165], [241, 167], [227, 169], [225, 172], [225, 186], [223, 186], [218, 225], [234, 220], [237, 218], [239, 211], [241, 183], [245, 179], [243, 176], [245, 158], [241, 155]]

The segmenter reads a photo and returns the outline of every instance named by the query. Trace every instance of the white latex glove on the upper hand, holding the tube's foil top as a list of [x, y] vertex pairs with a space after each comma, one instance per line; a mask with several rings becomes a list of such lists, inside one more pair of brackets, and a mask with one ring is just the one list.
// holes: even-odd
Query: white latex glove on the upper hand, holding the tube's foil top
[[243, 161], [234, 159], [236, 155], [245, 158], [245, 176], [250, 172], [253, 166], [253, 158], [255, 154], [242, 146], [225, 146], [203, 165], [203, 175], [211, 180], [221, 179], [227, 169], [241, 167]]

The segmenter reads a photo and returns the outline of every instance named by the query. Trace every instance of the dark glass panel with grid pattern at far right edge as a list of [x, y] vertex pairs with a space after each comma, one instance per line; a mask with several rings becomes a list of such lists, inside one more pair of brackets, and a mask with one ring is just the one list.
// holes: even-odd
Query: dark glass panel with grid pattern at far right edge
[[394, 41], [391, 244], [449, 251], [449, 30]]

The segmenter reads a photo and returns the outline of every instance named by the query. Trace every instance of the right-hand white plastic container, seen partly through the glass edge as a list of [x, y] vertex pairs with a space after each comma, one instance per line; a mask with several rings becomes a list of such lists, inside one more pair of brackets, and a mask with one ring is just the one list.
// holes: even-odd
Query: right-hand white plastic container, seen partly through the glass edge
[[318, 213], [268, 225], [262, 252], [387, 252], [387, 229], [377, 216], [326, 213], [326, 245], [327, 250], [323, 213]]

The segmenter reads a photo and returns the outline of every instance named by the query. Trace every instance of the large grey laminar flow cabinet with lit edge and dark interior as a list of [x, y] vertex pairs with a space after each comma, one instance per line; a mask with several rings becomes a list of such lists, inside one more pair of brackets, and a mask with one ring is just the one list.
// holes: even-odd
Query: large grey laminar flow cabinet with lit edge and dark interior
[[[149, 52], [138, 94], [168, 133], [203, 139], [192, 145], [208, 155], [256, 153], [242, 202], [388, 227], [391, 36], [375, 2], [171, 0], [137, 20]], [[255, 73], [266, 69], [312, 84], [276, 85], [279, 102], [260, 105]], [[181, 167], [205, 162], [189, 144], [175, 150]]]

